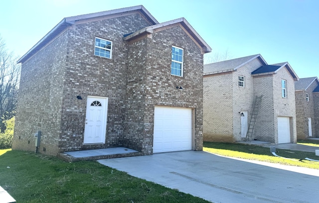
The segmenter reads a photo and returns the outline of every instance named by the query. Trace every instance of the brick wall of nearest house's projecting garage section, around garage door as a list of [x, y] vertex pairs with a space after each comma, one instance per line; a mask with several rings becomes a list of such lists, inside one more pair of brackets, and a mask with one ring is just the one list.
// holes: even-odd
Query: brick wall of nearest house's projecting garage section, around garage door
[[[172, 45], [184, 49], [183, 77], [170, 75]], [[193, 149], [202, 150], [203, 55], [200, 49], [179, 26], [155, 32], [152, 39], [133, 42], [129, 47], [130, 82], [124, 143], [127, 147], [134, 143], [139, 146], [138, 150], [151, 154], [155, 105], [166, 105], [195, 110]], [[176, 86], [182, 86], [183, 90]], [[132, 130], [136, 128], [140, 136]]]

